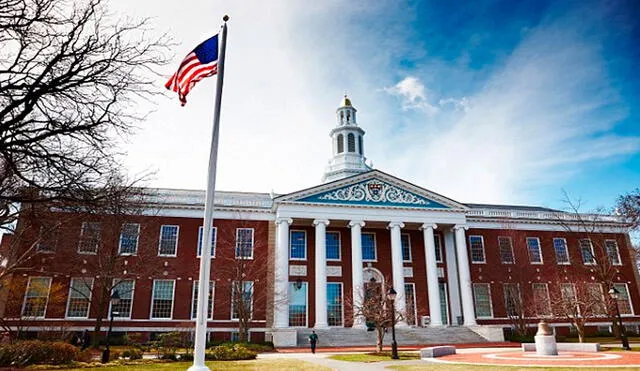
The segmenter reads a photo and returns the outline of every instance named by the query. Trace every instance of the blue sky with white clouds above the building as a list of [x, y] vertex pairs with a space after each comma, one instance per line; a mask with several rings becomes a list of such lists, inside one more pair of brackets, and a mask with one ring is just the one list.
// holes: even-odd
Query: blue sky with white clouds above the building
[[[221, 189], [317, 184], [345, 91], [374, 167], [462, 202], [562, 207], [565, 189], [595, 208], [640, 184], [638, 1], [113, 2], [152, 12], [175, 65], [231, 15]], [[159, 102], [132, 171], [204, 188], [212, 90]]]

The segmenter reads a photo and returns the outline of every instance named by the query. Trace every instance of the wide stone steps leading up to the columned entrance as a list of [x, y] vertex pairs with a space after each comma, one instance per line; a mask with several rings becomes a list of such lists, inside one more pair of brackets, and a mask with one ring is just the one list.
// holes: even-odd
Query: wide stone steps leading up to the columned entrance
[[[309, 345], [309, 335], [313, 329], [297, 329], [297, 345]], [[376, 332], [366, 329], [331, 328], [316, 330], [318, 346], [373, 346]], [[468, 327], [405, 327], [396, 328], [396, 341], [399, 345], [460, 344], [483, 343], [487, 339]], [[384, 336], [384, 345], [391, 345], [391, 330]]]

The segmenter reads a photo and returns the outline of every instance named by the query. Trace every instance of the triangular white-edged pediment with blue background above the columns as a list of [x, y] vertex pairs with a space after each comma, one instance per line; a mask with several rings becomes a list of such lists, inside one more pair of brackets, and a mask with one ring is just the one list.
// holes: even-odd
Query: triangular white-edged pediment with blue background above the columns
[[465, 205], [379, 170], [278, 197], [276, 202], [466, 209]]

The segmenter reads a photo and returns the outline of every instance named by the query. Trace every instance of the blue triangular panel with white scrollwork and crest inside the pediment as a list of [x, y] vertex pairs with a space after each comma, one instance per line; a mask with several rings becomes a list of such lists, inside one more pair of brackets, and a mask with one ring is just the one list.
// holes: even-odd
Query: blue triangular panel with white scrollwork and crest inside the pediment
[[369, 179], [347, 187], [309, 196], [299, 201], [446, 208], [442, 204], [378, 179]]

